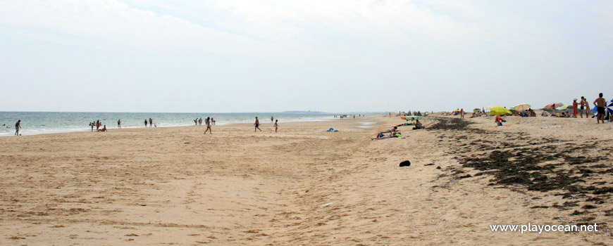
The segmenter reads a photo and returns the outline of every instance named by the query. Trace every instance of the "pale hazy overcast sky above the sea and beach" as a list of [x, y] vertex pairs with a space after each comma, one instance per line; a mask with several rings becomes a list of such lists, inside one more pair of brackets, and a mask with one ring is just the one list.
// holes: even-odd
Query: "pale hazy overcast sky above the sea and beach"
[[613, 96], [613, 1], [0, 0], [0, 111], [325, 112]]

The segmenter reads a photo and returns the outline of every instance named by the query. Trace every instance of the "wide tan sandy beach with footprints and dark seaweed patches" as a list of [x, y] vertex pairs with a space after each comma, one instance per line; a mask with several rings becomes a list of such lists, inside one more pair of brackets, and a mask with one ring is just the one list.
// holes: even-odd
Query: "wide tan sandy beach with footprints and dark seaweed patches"
[[[0, 245], [611, 244], [613, 124], [507, 120], [380, 141], [400, 117], [3, 137]], [[489, 228], [528, 223], [600, 231]]]

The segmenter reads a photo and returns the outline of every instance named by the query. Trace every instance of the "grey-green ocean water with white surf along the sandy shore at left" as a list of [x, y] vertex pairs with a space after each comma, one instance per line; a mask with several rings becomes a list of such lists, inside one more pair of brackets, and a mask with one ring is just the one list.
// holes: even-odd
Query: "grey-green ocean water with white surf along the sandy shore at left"
[[89, 122], [100, 120], [106, 128], [117, 128], [121, 119], [122, 128], [144, 127], [144, 119], [153, 119], [157, 127], [180, 127], [194, 125], [194, 119], [213, 117], [216, 124], [254, 122], [259, 117], [262, 124], [270, 123], [271, 116], [279, 122], [297, 122], [333, 119], [327, 113], [168, 113], [168, 112], [0, 112], [0, 136], [13, 136], [15, 123], [21, 119], [22, 135], [50, 134], [70, 131], [91, 131]]

